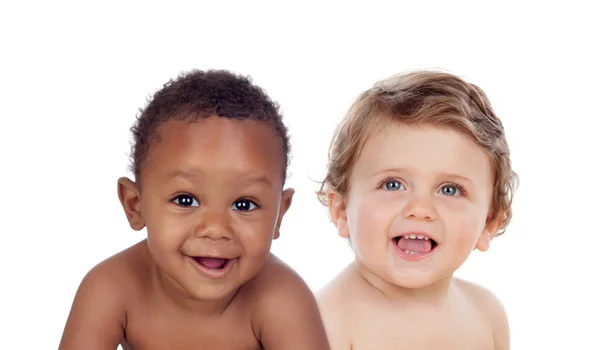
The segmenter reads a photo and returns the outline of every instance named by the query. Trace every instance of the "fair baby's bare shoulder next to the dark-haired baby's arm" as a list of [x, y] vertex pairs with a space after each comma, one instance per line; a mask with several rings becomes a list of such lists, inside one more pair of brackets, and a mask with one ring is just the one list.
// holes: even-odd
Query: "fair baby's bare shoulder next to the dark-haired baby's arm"
[[359, 313], [355, 307], [359, 301], [355, 294], [359, 289], [352, 266], [349, 266], [317, 293], [321, 317], [334, 350], [351, 349], [352, 320]]

